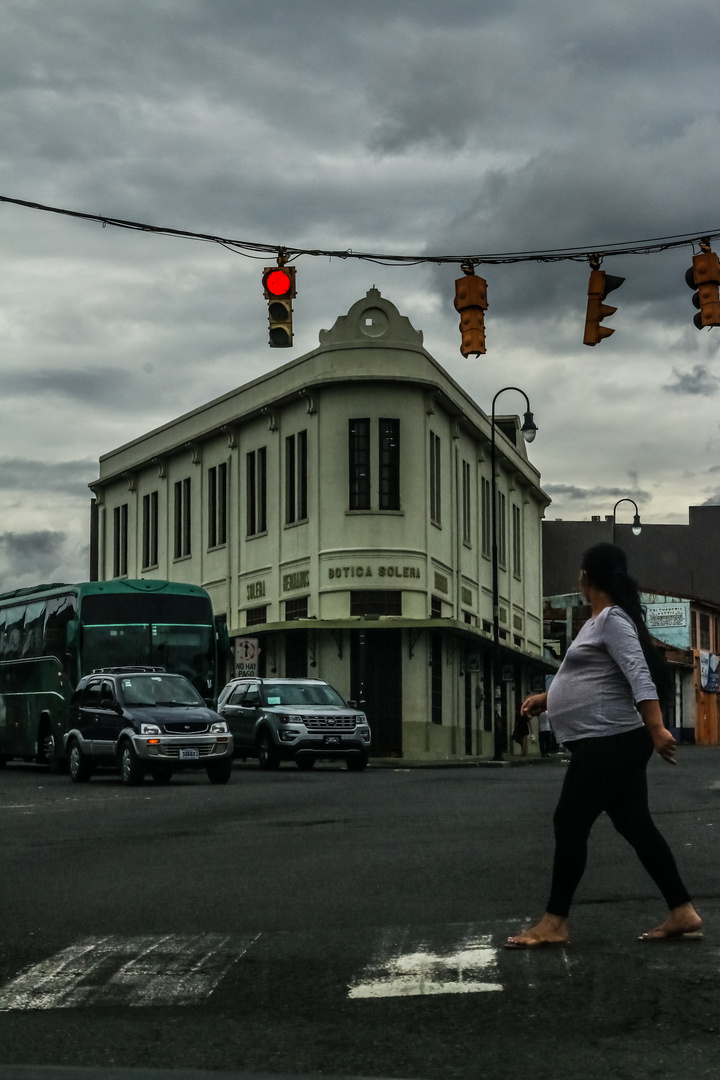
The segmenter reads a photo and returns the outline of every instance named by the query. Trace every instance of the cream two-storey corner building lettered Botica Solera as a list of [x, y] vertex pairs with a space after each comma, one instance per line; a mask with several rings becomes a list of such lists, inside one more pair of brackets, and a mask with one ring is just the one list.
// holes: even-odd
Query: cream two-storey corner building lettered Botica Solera
[[547, 666], [549, 499], [518, 417], [495, 418], [493, 687], [490, 443], [372, 288], [318, 349], [100, 459], [94, 572], [202, 585], [228, 677], [326, 679], [367, 712], [375, 755], [517, 752], [517, 707]]

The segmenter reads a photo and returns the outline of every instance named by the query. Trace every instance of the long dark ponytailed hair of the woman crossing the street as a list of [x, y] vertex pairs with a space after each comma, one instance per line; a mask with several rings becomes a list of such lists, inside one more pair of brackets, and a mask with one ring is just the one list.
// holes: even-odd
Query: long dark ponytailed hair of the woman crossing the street
[[629, 615], [637, 627], [650, 675], [657, 688], [657, 697], [661, 704], [666, 704], [673, 692], [670, 670], [652, 643], [637, 582], [627, 572], [625, 552], [614, 543], [596, 543], [584, 553], [580, 568], [592, 585], [607, 593], [613, 604]]

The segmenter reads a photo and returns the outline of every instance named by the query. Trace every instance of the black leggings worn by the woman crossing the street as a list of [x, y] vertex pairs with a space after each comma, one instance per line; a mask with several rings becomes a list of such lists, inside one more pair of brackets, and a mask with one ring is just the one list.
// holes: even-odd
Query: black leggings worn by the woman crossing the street
[[604, 810], [673, 909], [687, 904], [685, 889], [667, 841], [648, 807], [646, 769], [652, 755], [648, 730], [576, 739], [567, 744], [571, 759], [553, 819], [555, 861], [547, 912], [567, 918], [587, 859], [587, 838]]

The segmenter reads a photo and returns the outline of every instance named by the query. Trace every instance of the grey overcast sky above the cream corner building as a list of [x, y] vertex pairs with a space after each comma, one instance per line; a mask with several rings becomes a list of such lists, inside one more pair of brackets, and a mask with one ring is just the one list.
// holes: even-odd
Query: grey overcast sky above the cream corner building
[[[0, 0], [0, 194], [323, 249], [701, 235], [719, 55], [717, 0]], [[312, 350], [372, 285], [483, 408], [528, 393], [548, 517], [629, 497], [684, 522], [720, 501], [720, 328], [693, 326], [691, 257], [606, 259], [626, 282], [593, 349], [586, 264], [479, 268], [467, 360], [454, 267], [302, 257], [279, 351], [272, 258], [0, 203], [0, 589], [86, 578], [99, 455]]]

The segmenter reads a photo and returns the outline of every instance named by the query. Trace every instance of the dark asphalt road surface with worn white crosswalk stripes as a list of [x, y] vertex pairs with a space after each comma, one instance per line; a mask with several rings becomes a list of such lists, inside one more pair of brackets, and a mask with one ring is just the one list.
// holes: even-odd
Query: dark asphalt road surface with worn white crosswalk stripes
[[[653, 760], [706, 919], [596, 825], [567, 949], [511, 953], [546, 899], [565, 766], [204, 774], [124, 788], [0, 772], [0, 1063], [532, 1080], [720, 1069], [720, 750]], [[2, 1076], [0, 1067], [0, 1076]]]

